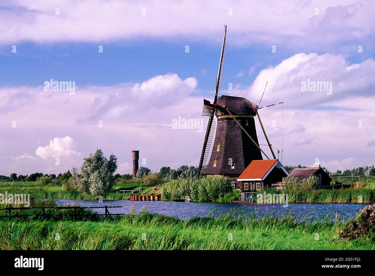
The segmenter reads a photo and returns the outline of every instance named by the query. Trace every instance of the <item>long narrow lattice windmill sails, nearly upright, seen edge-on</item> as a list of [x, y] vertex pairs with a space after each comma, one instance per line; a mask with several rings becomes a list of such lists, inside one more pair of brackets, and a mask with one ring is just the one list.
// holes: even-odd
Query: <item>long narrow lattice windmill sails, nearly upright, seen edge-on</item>
[[[225, 37], [226, 37], [226, 25], [224, 25], [223, 46], [221, 48], [219, 71], [217, 72], [217, 78], [216, 78], [215, 98], [213, 101], [214, 106], [216, 105], [216, 102], [217, 102], [217, 95], [219, 94], [219, 91], [220, 91], [221, 80], [222, 80], [222, 75], [223, 75], [224, 55], [225, 55]], [[207, 161], [208, 154], [210, 152], [211, 142], [213, 139], [213, 133], [215, 132], [215, 126], [216, 126], [216, 121], [214, 120], [215, 108], [212, 107], [211, 109], [212, 111], [211, 111], [211, 116], [208, 119], [208, 125], [207, 125], [206, 135], [204, 137], [201, 159], [199, 160], [198, 176], [197, 176], [198, 178], [201, 174], [203, 164], [205, 164], [205, 162]], [[204, 111], [204, 108], [203, 108], [203, 111]]]

